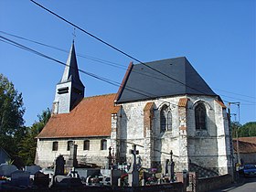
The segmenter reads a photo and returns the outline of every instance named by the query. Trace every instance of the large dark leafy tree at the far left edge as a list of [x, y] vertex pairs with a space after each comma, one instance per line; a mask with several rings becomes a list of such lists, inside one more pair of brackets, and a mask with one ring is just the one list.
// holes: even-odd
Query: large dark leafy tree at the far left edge
[[23, 126], [24, 112], [22, 93], [0, 74], [0, 146], [12, 156], [17, 153], [16, 136], [21, 139], [26, 130]]

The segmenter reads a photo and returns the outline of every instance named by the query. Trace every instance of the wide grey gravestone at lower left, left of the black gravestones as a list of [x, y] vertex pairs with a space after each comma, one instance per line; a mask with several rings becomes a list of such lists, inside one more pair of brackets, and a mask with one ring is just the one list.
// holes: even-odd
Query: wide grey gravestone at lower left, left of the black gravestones
[[17, 170], [11, 174], [11, 185], [28, 187], [30, 185], [30, 174], [27, 171]]

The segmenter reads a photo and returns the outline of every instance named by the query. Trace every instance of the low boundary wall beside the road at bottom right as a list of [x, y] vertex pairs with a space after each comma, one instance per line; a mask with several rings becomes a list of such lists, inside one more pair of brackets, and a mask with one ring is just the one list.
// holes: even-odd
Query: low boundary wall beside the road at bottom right
[[213, 176], [208, 178], [199, 178], [197, 181], [197, 192], [210, 191], [219, 187], [225, 187], [231, 184], [232, 176]]

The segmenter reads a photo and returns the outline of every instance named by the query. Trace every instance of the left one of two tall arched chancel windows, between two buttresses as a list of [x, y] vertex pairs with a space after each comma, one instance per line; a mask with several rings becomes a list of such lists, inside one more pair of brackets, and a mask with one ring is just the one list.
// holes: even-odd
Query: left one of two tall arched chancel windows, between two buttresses
[[160, 112], [160, 132], [164, 133], [172, 129], [172, 113], [167, 105], [164, 105]]

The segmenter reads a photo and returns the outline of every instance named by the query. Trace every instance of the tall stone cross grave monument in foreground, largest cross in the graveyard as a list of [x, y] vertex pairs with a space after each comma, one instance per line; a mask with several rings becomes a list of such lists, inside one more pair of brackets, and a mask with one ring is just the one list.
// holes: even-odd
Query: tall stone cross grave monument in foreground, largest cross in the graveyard
[[133, 149], [130, 150], [130, 154], [132, 154], [132, 165], [128, 171], [128, 183], [129, 187], [137, 187], [139, 186], [139, 171], [136, 165], [136, 155], [139, 154], [139, 151], [136, 150], [136, 145], [133, 144]]

